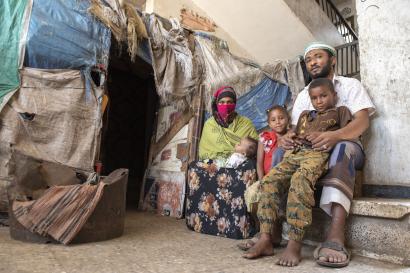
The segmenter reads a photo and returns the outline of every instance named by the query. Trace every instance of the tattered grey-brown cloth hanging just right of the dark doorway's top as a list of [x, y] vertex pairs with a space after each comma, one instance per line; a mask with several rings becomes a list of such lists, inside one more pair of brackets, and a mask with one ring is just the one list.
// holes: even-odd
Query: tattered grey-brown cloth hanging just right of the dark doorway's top
[[191, 52], [189, 39], [178, 20], [171, 19], [171, 24], [168, 30], [155, 14], [149, 17], [152, 67], [161, 104], [172, 103], [179, 110], [184, 110], [200, 85], [200, 52]]

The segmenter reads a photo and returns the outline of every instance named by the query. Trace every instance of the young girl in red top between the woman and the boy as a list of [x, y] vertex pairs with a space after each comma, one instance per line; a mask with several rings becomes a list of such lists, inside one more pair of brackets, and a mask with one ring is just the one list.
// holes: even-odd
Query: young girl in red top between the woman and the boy
[[271, 130], [259, 135], [257, 153], [258, 179], [262, 179], [269, 170], [282, 160], [283, 150], [277, 149], [278, 140], [286, 134], [289, 115], [283, 106], [275, 105], [268, 111], [268, 125]]

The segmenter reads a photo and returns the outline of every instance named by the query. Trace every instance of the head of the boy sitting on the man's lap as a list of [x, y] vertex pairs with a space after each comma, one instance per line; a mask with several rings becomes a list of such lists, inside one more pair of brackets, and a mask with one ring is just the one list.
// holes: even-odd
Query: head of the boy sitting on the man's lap
[[333, 82], [327, 78], [314, 79], [309, 85], [309, 97], [319, 112], [335, 107], [337, 94]]

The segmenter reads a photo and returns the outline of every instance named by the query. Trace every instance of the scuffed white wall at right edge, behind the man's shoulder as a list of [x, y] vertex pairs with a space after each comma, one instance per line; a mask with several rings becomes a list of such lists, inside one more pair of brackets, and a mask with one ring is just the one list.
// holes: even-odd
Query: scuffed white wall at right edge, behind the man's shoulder
[[360, 71], [377, 107], [365, 183], [410, 186], [410, 1], [356, 0]]

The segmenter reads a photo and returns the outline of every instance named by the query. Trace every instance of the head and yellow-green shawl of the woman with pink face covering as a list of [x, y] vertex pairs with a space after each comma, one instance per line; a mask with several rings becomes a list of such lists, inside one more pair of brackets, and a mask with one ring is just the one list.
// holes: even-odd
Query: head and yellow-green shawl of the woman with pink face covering
[[241, 138], [258, 139], [252, 122], [235, 112], [236, 93], [230, 86], [219, 88], [212, 98], [212, 117], [204, 125], [199, 159], [223, 162]]

